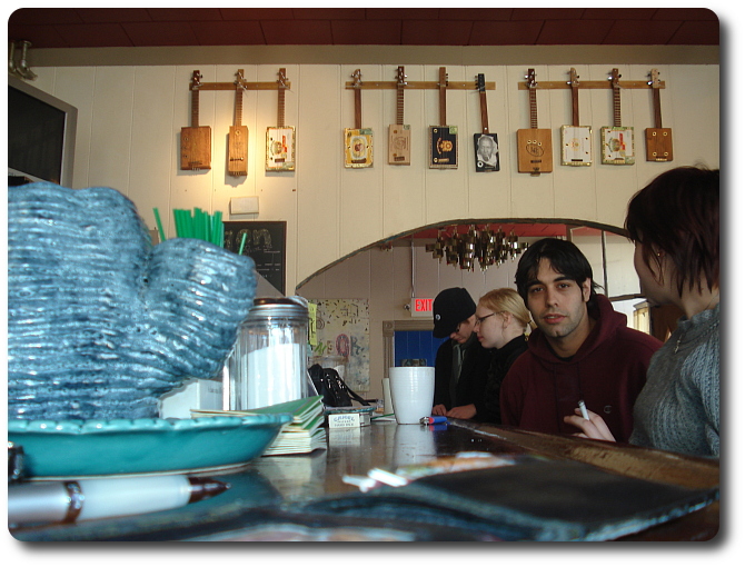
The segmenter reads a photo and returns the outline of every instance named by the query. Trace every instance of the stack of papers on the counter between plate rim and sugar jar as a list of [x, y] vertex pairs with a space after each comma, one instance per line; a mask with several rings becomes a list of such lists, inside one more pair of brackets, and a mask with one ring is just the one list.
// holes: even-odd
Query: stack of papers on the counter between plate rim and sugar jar
[[311, 452], [326, 448], [326, 429], [324, 429], [324, 402], [321, 396], [301, 398], [295, 401], [275, 404], [265, 408], [238, 410], [192, 409], [192, 417], [206, 416], [248, 416], [255, 414], [292, 414], [292, 421], [286, 424], [275, 441], [264, 455], [290, 455]]

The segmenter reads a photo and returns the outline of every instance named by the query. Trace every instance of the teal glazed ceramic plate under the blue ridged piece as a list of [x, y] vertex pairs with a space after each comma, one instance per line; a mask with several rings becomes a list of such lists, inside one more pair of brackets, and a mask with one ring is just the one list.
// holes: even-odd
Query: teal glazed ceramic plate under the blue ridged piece
[[29, 477], [202, 472], [259, 457], [291, 414], [196, 419], [8, 420]]

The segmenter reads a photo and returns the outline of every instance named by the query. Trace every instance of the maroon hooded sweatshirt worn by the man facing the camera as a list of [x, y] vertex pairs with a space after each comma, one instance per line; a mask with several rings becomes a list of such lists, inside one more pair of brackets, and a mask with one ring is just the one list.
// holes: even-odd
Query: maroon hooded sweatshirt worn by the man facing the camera
[[[626, 316], [607, 297], [596, 296], [597, 322], [579, 350], [562, 359], [536, 329], [528, 350], [515, 360], [501, 385], [503, 424], [547, 434], [576, 434], [564, 422], [577, 402], [598, 414], [617, 441], [626, 442], [634, 428], [634, 402], [646, 381], [656, 338], [626, 326]], [[592, 315], [590, 315], [592, 316]]]

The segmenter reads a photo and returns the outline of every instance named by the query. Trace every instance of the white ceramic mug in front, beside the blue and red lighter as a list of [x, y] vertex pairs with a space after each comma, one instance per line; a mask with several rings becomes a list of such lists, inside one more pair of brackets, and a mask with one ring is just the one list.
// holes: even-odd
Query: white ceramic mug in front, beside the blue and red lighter
[[401, 366], [388, 370], [394, 415], [399, 424], [418, 424], [429, 417], [435, 399], [435, 368]]

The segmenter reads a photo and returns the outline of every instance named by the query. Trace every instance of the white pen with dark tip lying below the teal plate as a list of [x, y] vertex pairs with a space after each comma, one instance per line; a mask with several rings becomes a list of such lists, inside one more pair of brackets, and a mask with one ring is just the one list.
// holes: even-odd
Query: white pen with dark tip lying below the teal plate
[[71, 523], [168, 510], [229, 487], [185, 475], [21, 483], [8, 486], [8, 524]]

